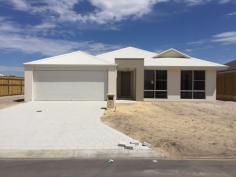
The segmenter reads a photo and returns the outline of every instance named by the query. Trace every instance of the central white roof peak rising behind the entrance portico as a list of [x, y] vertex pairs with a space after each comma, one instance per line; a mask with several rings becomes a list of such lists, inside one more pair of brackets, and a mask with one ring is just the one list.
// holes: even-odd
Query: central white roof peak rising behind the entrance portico
[[123, 59], [145, 59], [150, 58], [157, 55], [157, 53], [150, 52], [143, 49], [138, 49], [135, 47], [126, 47], [119, 50], [103, 53], [100, 55], [97, 55], [98, 58], [101, 60], [110, 62], [115, 64], [116, 58], [123, 58]]

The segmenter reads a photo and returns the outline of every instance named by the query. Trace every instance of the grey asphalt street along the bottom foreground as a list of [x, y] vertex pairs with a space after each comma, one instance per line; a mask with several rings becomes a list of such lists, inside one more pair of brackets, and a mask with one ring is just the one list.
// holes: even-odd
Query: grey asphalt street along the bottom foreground
[[0, 160], [0, 177], [235, 177], [234, 160]]

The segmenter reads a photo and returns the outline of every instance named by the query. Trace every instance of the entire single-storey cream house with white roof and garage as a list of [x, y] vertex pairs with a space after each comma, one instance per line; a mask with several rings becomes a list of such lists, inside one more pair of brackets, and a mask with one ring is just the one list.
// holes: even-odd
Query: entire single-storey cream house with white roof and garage
[[215, 100], [216, 72], [225, 65], [175, 49], [134, 47], [93, 56], [85, 52], [24, 64], [25, 100]]

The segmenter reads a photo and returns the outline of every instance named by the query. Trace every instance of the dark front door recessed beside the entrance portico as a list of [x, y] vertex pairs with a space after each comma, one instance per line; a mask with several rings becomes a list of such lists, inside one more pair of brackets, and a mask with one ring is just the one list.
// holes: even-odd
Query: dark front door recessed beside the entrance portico
[[131, 72], [118, 72], [118, 98], [131, 98]]

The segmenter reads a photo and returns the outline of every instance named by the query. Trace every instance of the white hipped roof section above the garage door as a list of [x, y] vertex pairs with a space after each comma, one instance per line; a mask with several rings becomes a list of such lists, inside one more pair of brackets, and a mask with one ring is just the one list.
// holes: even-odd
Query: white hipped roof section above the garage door
[[45, 58], [32, 62], [24, 63], [25, 65], [111, 65], [106, 61], [90, 55], [88, 53], [77, 51], [55, 57]]

